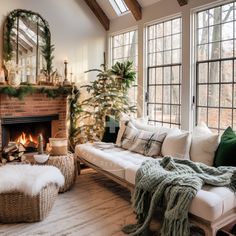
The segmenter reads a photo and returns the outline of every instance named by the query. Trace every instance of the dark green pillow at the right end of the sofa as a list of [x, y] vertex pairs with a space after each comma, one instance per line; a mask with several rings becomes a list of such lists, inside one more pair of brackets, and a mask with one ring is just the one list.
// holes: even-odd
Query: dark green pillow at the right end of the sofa
[[216, 167], [236, 166], [236, 134], [231, 127], [228, 127], [221, 136], [214, 165]]

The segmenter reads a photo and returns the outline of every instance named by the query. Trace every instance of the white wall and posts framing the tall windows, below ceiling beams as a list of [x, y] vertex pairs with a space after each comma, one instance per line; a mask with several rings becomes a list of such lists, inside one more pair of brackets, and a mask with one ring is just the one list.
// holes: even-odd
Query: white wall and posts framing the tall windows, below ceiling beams
[[111, 22], [111, 28], [109, 33], [118, 32], [124, 29], [128, 29], [130, 27], [137, 26], [138, 27], [138, 85], [139, 85], [139, 115], [144, 114], [144, 101], [143, 93], [145, 91], [146, 86], [146, 69], [145, 69], [145, 25], [150, 23], [151, 21], [157, 21], [161, 18], [165, 18], [168, 16], [181, 14], [183, 18], [183, 77], [182, 77], [182, 120], [181, 120], [181, 128], [189, 130], [193, 125], [193, 112], [192, 112], [192, 104], [190, 102], [190, 97], [193, 95], [193, 83], [191, 82], [191, 47], [190, 43], [192, 41], [191, 38], [191, 12], [192, 9], [209, 4], [215, 3], [216, 0], [189, 0], [188, 5], [180, 7], [177, 0], [161, 0], [156, 4], [148, 6], [143, 9], [142, 20], [135, 21], [131, 14], [126, 14], [122, 17], [116, 18]]

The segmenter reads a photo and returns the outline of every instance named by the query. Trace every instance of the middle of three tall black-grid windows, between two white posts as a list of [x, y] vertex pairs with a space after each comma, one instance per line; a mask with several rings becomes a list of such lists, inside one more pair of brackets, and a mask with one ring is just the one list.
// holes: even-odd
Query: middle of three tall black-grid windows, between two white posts
[[147, 113], [149, 122], [180, 127], [182, 20], [147, 27]]

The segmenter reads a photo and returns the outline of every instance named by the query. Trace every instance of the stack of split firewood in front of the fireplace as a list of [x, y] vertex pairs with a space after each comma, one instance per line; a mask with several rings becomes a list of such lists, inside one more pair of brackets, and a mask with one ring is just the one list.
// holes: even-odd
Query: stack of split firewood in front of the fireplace
[[6, 147], [3, 148], [2, 163], [18, 161], [22, 162], [26, 160], [24, 155], [25, 147], [21, 143], [9, 142]]

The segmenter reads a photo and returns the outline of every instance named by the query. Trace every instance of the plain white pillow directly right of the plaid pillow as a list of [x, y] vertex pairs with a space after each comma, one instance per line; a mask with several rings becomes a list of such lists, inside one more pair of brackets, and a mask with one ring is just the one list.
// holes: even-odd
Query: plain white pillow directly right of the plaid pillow
[[161, 153], [163, 156], [189, 159], [190, 146], [191, 134], [188, 132], [182, 133], [179, 129], [175, 129], [165, 138]]

